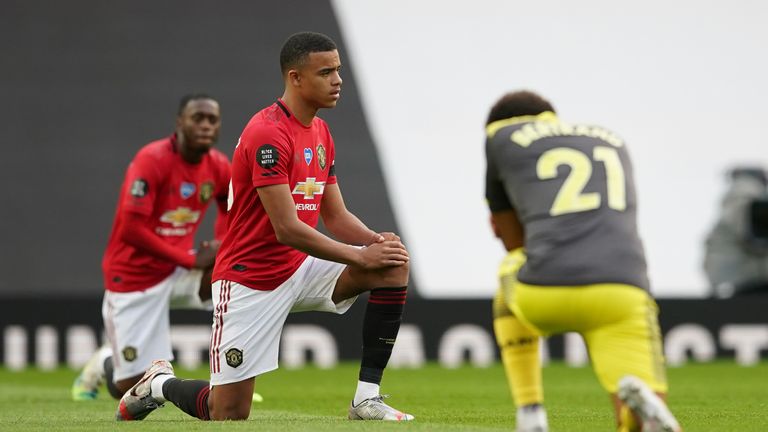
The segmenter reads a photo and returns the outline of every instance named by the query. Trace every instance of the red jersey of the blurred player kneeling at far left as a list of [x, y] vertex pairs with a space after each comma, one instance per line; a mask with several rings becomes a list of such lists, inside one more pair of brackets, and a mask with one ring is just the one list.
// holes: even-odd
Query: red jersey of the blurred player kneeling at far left
[[[211, 201], [228, 193], [229, 160], [218, 150], [190, 164], [176, 150], [176, 136], [154, 141], [136, 154], [123, 180], [115, 220], [102, 260], [104, 284], [117, 292], [142, 291], [168, 277], [186, 262], [159, 259], [120, 237], [129, 213], [147, 217], [147, 228], [179, 250], [191, 251], [195, 233]], [[185, 255], [182, 255], [186, 258]]]

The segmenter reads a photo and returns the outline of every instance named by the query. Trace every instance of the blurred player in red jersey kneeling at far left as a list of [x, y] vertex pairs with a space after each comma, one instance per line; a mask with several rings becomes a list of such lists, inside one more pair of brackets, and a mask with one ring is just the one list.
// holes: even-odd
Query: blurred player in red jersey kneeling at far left
[[218, 241], [193, 248], [211, 203], [218, 208], [215, 237], [226, 229], [229, 161], [212, 148], [220, 117], [210, 96], [185, 96], [175, 133], [142, 147], [129, 165], [102, 261], [109, 346], [75, 380], [75, 400], [94, 399], [100, 381], [120, 398], [153, 360], [173, 358], [168, 310], [211, 307]]

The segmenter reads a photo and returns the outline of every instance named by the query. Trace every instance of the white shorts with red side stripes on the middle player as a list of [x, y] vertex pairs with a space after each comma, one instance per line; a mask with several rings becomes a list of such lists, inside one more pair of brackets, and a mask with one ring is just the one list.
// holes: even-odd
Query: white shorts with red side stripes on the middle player
[[277, 369], [280, 335], [291, 312], [343, 314], [357, 297], [334, 304], [336, 281], [345, 264], [308, 256], [272, 291], [231, 281], [213, 283], [211, 385], [243, 381]]

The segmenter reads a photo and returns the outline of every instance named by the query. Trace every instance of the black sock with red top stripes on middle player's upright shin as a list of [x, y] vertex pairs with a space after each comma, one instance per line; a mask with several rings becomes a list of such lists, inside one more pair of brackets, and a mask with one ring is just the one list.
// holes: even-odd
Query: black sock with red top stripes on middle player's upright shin
[[363, 318], [363, 359], [360, 381], [380, 384], [395, 346], [408, 287], [375, 288]]

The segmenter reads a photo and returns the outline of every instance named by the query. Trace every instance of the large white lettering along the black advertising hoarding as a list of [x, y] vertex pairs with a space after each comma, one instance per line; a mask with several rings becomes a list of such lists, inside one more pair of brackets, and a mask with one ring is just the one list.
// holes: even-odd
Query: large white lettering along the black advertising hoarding
[[[30, 365], [27, 350], [34, 346], [33, 363], [43, 370], [66, 365], [82, 367], [98, 349], [94, 328], [73, 325], [64, 329], [64, 359], [59, 359], [59, 329], [41, 325], [31, 332], [20, 325], [3, 329], [3, 365], [9, 370], [23, 370]], [[30, 341], [30, 337], [32, 340]], [[199, 367], [207, 358], [210, 326], [173, 325], [171, 345], [178, 353], [183, 368]], [[718, 343], [721, 349], [733, 350], [736, 362], [742, 366], [754, 365], [761, 360], [761, 351], [768, 351], [768, 324], [726, 324], [719, 329], [718, 338], [704, 326], [684, 323], [672, 327], [665, 336], [664, 351], [668, 363], [685, 364], [689, 357], [697, 362], [714, 360]], [[404, 324], [393, 348], [390, 365], [400, 368], [418, 368], [427, 361], [427, 348], [422, 330], [415, 324]], [[588, 365], [586, 346], [576, 334], [564, 337], [564, 359], [569, 366]], [[540, 344], [542, 364], [550, 361], [549, 346]], [[314, 363], [317, 367], [331, 368], [339, 361], [339, 348], [334, 335], [321, 325], [286, 325], [281, 341], [281, 362], [289, 368]], [[493, 334], [476, 324], [457, 324], [448, 327], [437, 343], [437, 361], [444, 367], [456, 368], [464, 363], [487, 367], [497, 361]]]

